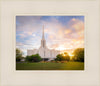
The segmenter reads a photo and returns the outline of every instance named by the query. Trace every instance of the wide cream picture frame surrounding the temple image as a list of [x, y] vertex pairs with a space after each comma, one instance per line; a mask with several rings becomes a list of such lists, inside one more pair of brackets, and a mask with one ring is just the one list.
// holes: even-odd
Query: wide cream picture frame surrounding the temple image
[[[1, 0], [1, 86], [99, 86], [99, 0]], [[16, 15], [84, 15], [85, 69], [83, 71], [16, 71]]]

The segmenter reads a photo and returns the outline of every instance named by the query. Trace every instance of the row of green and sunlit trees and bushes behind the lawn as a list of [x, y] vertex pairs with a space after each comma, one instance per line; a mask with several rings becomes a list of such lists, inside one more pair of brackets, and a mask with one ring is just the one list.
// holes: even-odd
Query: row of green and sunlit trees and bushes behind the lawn
[[[69, 56], [67, 52], [64, 52], [62, 54], [58, 54], [54, 61], [78, 61], [78, 62], [84, 62], [84, 48], [77, 48], [72, 53], [73, 56]], [[22, 56], [23, 53], [20, 49], [16, 49], [16, 62], [20, 62], [24, 59], [26, 62], [40, 62], [43, 59], [39, 54], [26, 56], [25, 58]]]

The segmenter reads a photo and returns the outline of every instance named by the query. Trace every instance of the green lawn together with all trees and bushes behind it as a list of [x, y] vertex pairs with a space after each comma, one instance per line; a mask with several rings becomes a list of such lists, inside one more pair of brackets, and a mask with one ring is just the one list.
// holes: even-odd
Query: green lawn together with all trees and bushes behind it
[[45, 60], [39, 54], [22, 57], [16, 50], [16, 70], [84, 70], [84, 48], [78, 48], [69, 56], [67, 52], [58, 54], [53, 60]]

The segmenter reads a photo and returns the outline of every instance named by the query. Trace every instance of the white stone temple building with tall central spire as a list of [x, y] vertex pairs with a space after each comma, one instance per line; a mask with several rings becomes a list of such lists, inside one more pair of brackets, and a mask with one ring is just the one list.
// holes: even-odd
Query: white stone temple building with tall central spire
[[27, 55], [34, 55], [39, 54], [41, 58], [47, 58], [49, 60], [53, 60], [56, 58], [58, 54], [60, 54], [60, 51], [54, 50], [54, 49], [48, 49], [46, 46], [46, 40], [44, 38], [44, 28], [43, 28], [43, 34], [42, 34], [42, 40], [41, 40], [41, 46], [39, 49], [34, 50], [27, 50]]

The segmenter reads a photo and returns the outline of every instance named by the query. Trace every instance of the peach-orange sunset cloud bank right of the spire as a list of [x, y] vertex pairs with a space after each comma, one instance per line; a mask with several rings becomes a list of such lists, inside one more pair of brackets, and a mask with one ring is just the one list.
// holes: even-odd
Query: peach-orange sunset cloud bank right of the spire
[[52, 42], [49, 48], [66, 49], [68, 52], [72, 52], [78, 47], [84, 47], [84, 23], [82, 21], [73, 18], [66, 27], [57, 20], [54, 21], [56, 24], [55, 22], [45, 22], [45, 25], [48, 26], [45, 28], [45, 33], [48, 33], [48, 41]]

